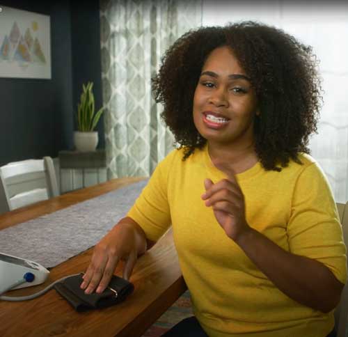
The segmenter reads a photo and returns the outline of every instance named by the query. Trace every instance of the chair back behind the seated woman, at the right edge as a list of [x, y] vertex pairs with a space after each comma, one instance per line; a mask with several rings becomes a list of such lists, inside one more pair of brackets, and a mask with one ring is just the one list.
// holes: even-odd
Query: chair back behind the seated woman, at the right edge
[[[340, 221], [342, 224], [343, 236], [345, 244], [348, 247], [348, 202], [337, 203], [338, 214], [340, 214]], [[348, 265], [347, 265], [348, 267]], [[343, 289], [340, 305], [335, 311], [335, 322], [337, 329], [337, 337], [348, 336], [348, 284]]]

